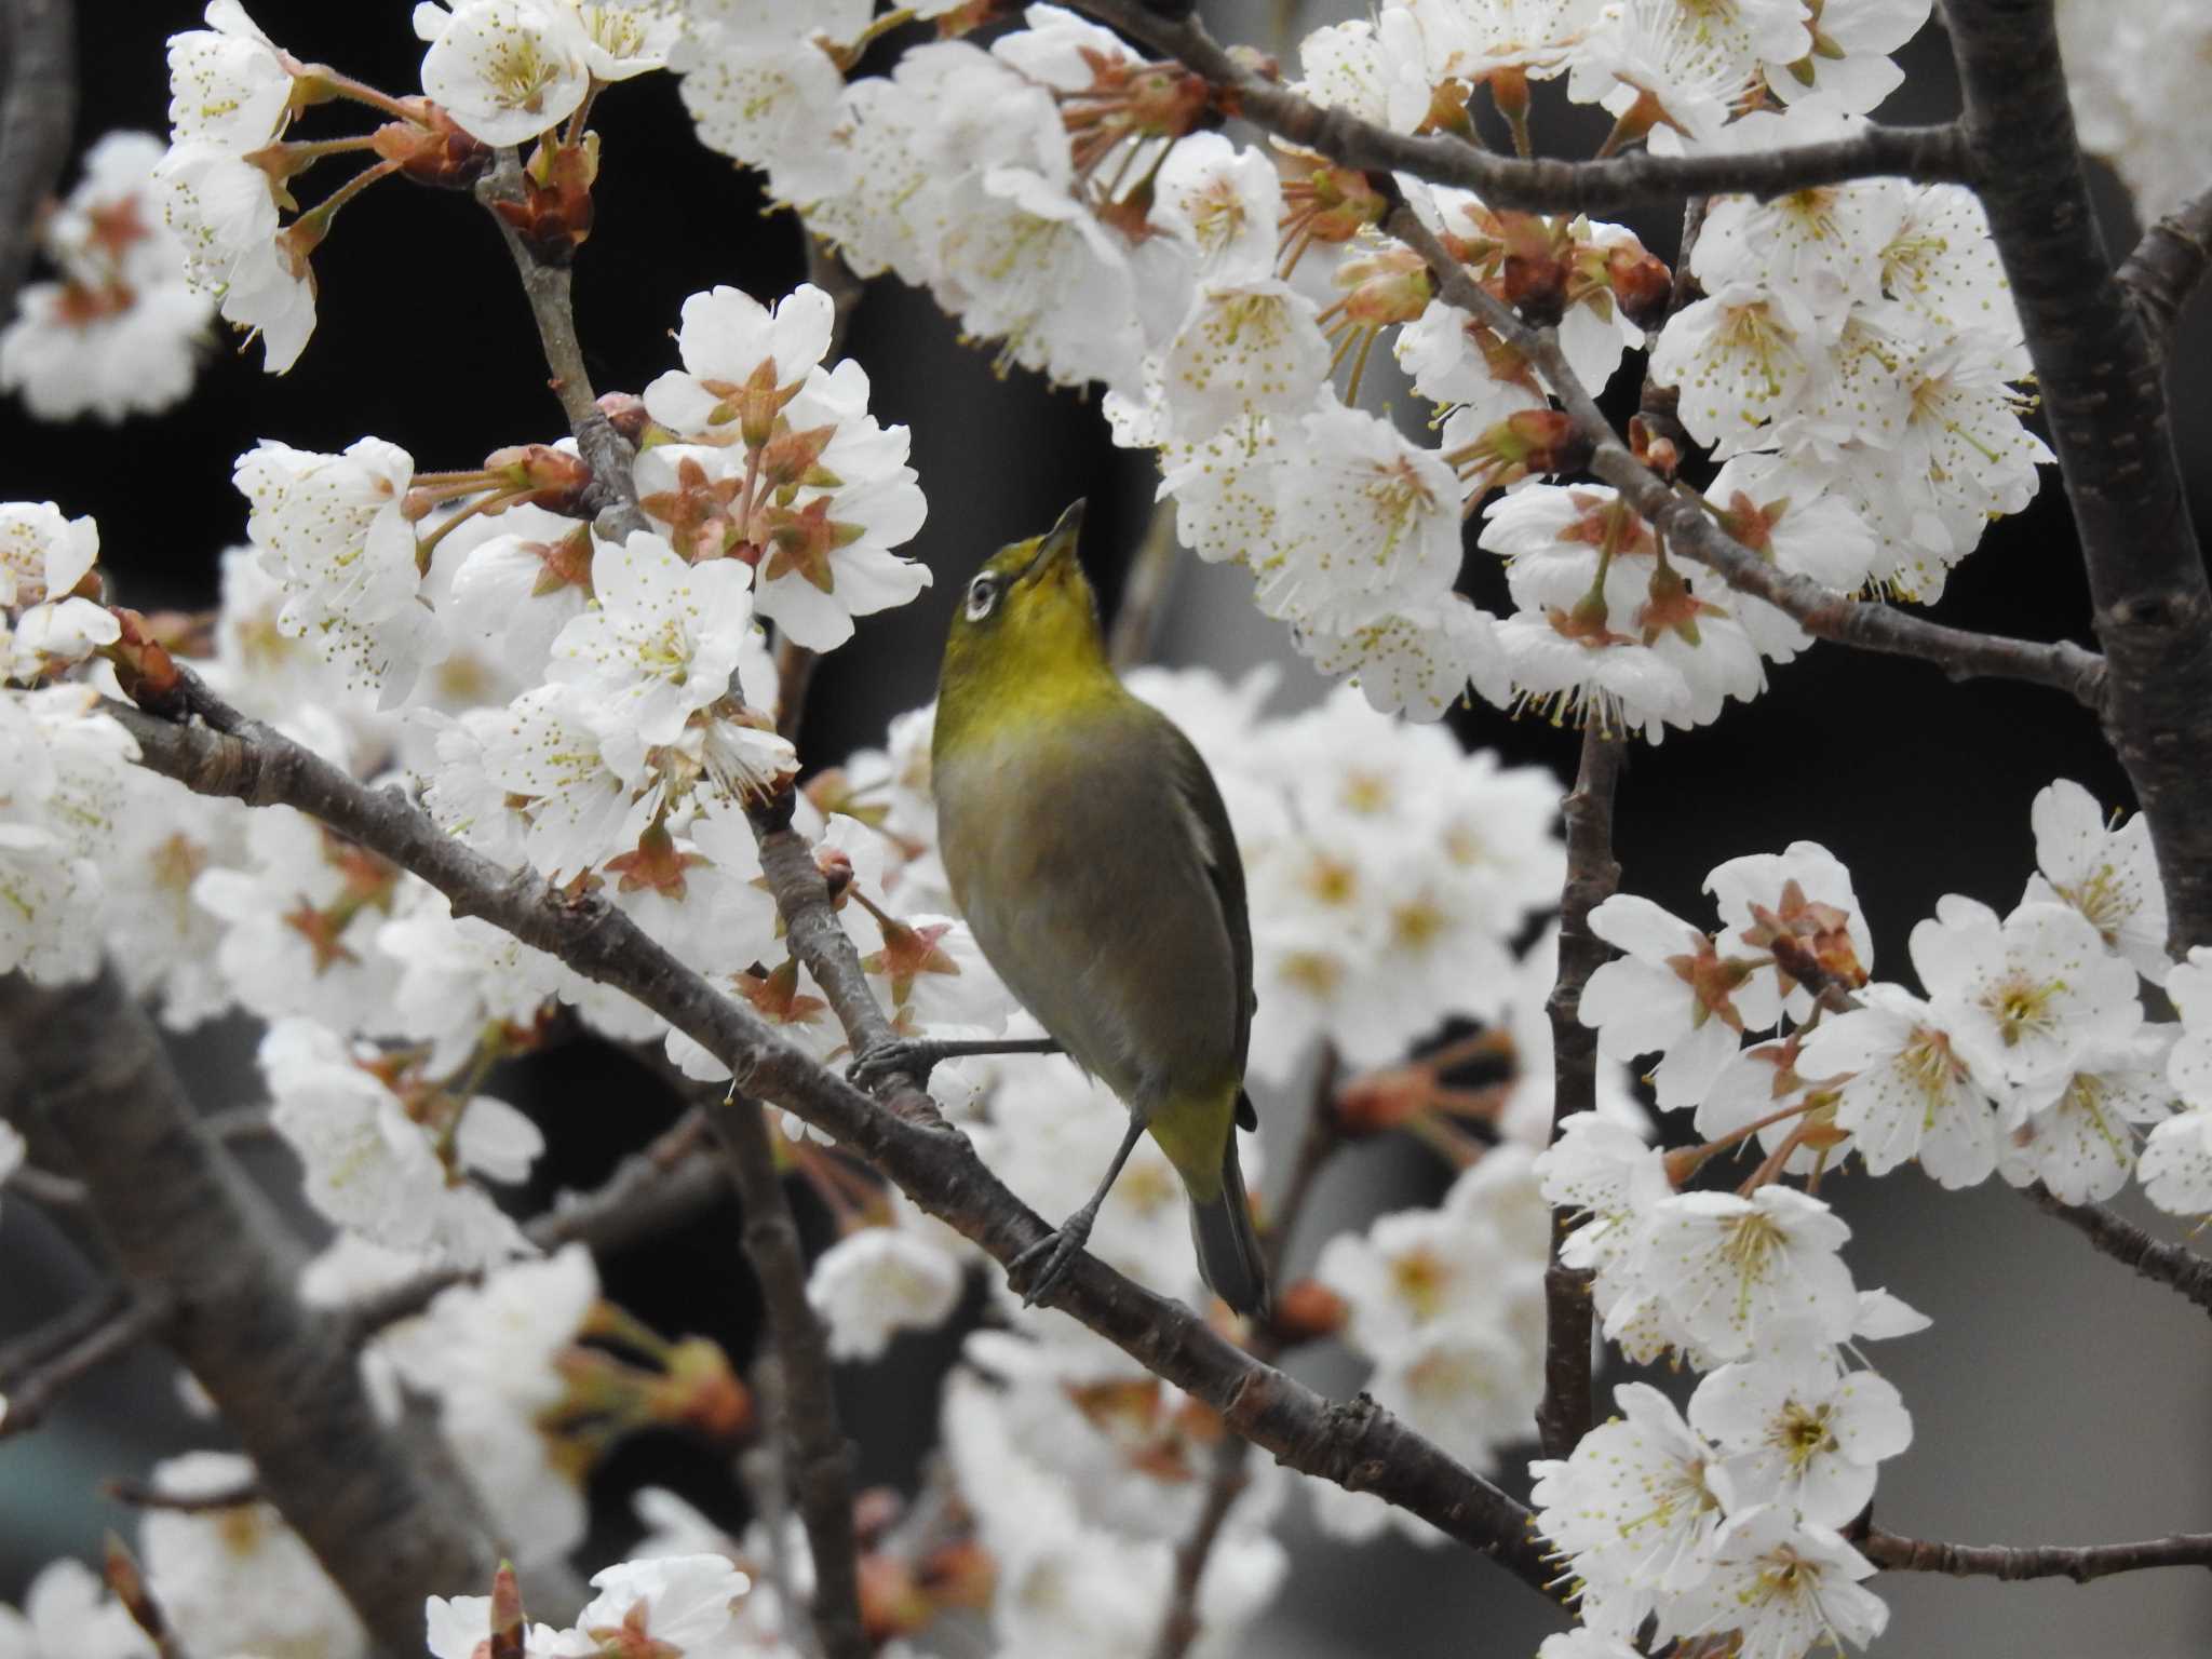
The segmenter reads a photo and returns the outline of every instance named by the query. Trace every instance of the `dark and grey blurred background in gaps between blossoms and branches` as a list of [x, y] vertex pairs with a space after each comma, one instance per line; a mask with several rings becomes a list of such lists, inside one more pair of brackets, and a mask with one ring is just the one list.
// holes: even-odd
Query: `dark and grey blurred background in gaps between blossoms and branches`
[[[250, 9], [303, 60], [327, 60], [392, 93], [418, 86], [420, 44], [396, 0], [259, 0]], [[161, 44], [197, 22], [197, 7], [135, 0], [82, 11], [77, 150], [117, 126], [164, 131]], [[1347, 9], [1261, 0], [1210, 2], [1203, 13], [1219, 35], [1290, 62], [1285, 42]], [[1882, 117], [1951, 115], [1955, 86], [1933, 24], [1905, 62], [1907, 86]], [[1588, 131], [1557, 104], [1540, 102], [1540, 142], [1553, 153], [1586, 153], [1601, 133], [1601, 122]], [[794, 219], [768, 212], [750, 177], [692, 142], [666, 75], [613, 88], [593, 124], [604, 137], [599, 217], [577, 259], [577, 310], [595, 385], [635, 392], [675, 361], [668, 332], [686, 294], [734, 283], [768, 299], [794, 285], [805, 261]], [[2135, 234], [2126, 199], [2106, 190], [2104, 206], [2108, 237], [2126, 248]], [[1655, 252], [1672, 254], [1672, 210], [1630, 223]], [[465, 197], [409, 186], [367, 192], [316, 254], [316, 276], [321, 323], [283, 378], [261, 372], [259, 349], [232, 356], [226, 341], [195, 398], [166, 418], [44, 427], [20, 407], [0, 407], [0, 498], [97, 515], [102, 564], [124, 602], [204, 608], [215, 599], [219, 553], [243, 540], [230, 469], [257, 438], [341, 449], [376, 434], [442, 469], [476, 465], [500, 445], [560, 436], [513, 272], [491, 223]], [[2208, 319], [2212, 307], [2199, 305], [2170, 361], [2203, 361]], [[995, 378], [984, 352], [960, 345], [953, 323], [896, 281], [869, 285], [847, 354], [872, 376], [878, 418], [914, 431], [929, 522], [907, 551], [938, 582], [920, 602], [863, 619], [858, 639], [823, 664], [801, 743], [807, 765], [880, 743], [891, 714], [931, 697], [964, 575], [998, 544], [1040, 531], [1075, 495], [1091, 498], [1086, 557], [1113, 606], [1155, 484], [1148, 456], [1106, 442], [1095, 400], [1048, 392], [1031, 376]], [[1635, 396], [1630, 378], [1615, 387], [1624, 411]], [[2177, 392], [2185, 473], [2212, 478], [2203, 380], [2181, 376]], [[1402, 394], [1398, 403], [1407, 403]], [[2212, 520], [2203, 487], [2197, 511]], [[1495, 580], [1482, 568], [1489, 564], [1469, 540], [1471, 591]], [[1942, 617], [2090, 641], [2055, 478], [1958, 571]], [[1281, 661], [1276, 712], [1325, 692], [1232, 571], [1183, 560], [1157, 639], [1164, 661], [1228, 675]], [[1453, 728], [1469, 748], [1573, 770], [1575, 734], [1542, 721], [1475, 708], [1455, 712]], [[1876, 971], [1902, 971], [1905, 936], [1940, 894], [2000, 907], [2017, 898], [2033, 869], [2028, 801], [2053, 776], [2077, 779], [2110, 805], [2128, 801], [2093, 719], [2057, 695], [1953, 686], [1920, 664], [1823, 646], [1776, 670], [1759, 703], [1730, 706], [1719, 726], [1635, 750], [1621, 785], [1619, 856], [1632, 891], [1703, 916], [1699, 885], [1721, 858], [1823, 841], [1856, 874]], [[259, 1095], [252, 1042], [246, 1024], [217, 1024], [179, 1044], [208, 1108]], [[529, 1208], [562, 1186], [595, 1183], [675, 1117], [675, 1102], [626, 1060], [575, 1048], [535, 1068], [524, 1062], [513, 1088], [500, 1093], [549, 1130], [551, 1152], [524, 1197]], [[1301, 1110], [1303, 1099], [1261, 1099], [1279, 1130], [1294, 1130]], [[285, 1175], [281, 1150], [259, 1157]], [[1296, 1259], [1310, 1261], [1332, 1230], [1365, 1223], [1380, 1208], [1433, 1199], [1447, 1179], [1411, 1146], [1354, 1148], [1329, 1168]], [[1913, 1449], [1882, 1471], [1878, 1513], [1887, 1528], [2028, 1544], [2212, 1526], [2212, 1327], [2197, 1310], [2093, 1254], [2000, 1181], [1942, 1194], [1905, 1170], [1880, 1183], [1847, 1179], [1829, 1197], [1856, 1232], [1849, 1261], [1858, 1283], [1887, 1285], [1936, 1321], [1880, 1354], [1918, 1429]], [[2148, 1214], [2128, 1201], [2121, 1208]], [[805, 1219], [827, 1239], [823, 1217]], [[2152, 1219], [2152, 1228], [2172, 1237], [2170, 1219]], [[606, 1294], [648, 1323], [717, 1336], [739, 1360], [750, 1354], [757, 1303], [734, 1208], [602, 1270]], [[69, 1305], [84, 1283], [38, 1208], [9, 1197], [0, 1340]], [[902, 1338], [883, 1363], [845, 1369], [843, 1405], [865, 1480], [911, 1484], [933, 1438], [936, 1380], [956, 1347], [956, 1334]], [[1358, 1378], [1349, 1360], [1332, 1365], [1327, 1354], [1296, 1369], [1329, 1389]], [[1613, 1380], [1624, 1374], [1617, 1367]], [[219, 1433], [177, 1405], [166, 1365], [142, 1358], [73, 1391], [38, 1433], [0, 1442], [0, 1599], [15, 1599], [49, 1557], [95, 1553], [102, 1528], [126, 1522], [126, 1511], [100, 1498], [100, 1480], [142, 1475], [153, 1458], [219, 1444]], [[1524, 1486], [1511, 1471], [1502, 1480]], [[743, 1517], [721, 1469], [668, 1438], [633, 1442], [595, 1475], [602, 1524], [586, 1551], [593, 1566], [615, 1559], [633, 1537], [628, 1491], [644, 1482], [675, 1486], [719, 1520]], [[1347, 1551], [1303, 1526], [1294, 1506], [1296, 1566], [1250, 1652], [1480, 1659], [1531, 1652], [1557, 1628], [1555, 1613], [1475, 1557], [1400, 1542]], [[1880, 1652], [1900, 1657], [2183, 1659], [2212, 1648], [2212, 1577], [2203, 1573], [2143, 1573], [2086, 1588], [1891, 1575], [1876, 1588], [1891, 1604]]]

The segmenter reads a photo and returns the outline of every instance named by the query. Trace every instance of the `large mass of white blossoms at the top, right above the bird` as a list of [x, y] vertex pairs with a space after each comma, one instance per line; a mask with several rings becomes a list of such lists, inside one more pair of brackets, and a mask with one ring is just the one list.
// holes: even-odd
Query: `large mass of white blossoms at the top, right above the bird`
[[[1486, 91], [1526, 146], [1531, 82], [1559, 82], [1615, 115], [1610, 148], [1814, 144], [1865, 124], [1924, 20], [1913, 2], [1391, 0], [1307, 35], [1296, 88], [1400, 133], [1469, 131]], [[1471, 686], [1657, 739], [1756, 697], [1765, 664], [1809, 644], [1670, 562], [1613, 491], [1528, 484], [1573, 473], [1586, 442], [1385, 234], [1365, 175], [1203, 131], [1201, 82], [1060, 7], [847, 82], [869, 38], [865, 7], [699, 7], [670, 62], [701, 137], [854, 270], [929, 288], [1002, 365], [1104, 385], [1117, 440], [1159, 453], [1183, 544], [1250, 568], [1259, 608], [1376, 708], [1433, 719]], [[1398, 184], [1471, 281], [1557, 325], [1586, 385], [1663, 321], [1650, 376], [1728, 462], [1714, 518], [1783, 568], [1931, 602], [2035, 491], [2048, 451], [2020, 425], [2020, 327], [1958, 186], [1723, 197], [1690, 261], [1708, 296], [1668, 316], [1670, 272], [1617, 226]], [[1433, 445], [1358, 405], [1385, 338], [1436, 405]], [[1498, 487], [1517, 489], [1482, 535], [1509, 560], [1502, 615], [1455, 591], [1460, 520]]]

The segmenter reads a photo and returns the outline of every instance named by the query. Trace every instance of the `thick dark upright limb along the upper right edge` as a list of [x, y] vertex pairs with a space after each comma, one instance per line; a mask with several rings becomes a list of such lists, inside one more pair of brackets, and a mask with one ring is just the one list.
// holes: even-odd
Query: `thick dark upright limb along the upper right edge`
[[2212, 586], [2159, 358], [2081, 170], [2051, 0], [1947, 0], [1966, 142], [2081, 538], [2104, 728], [2166, 880], [2177, 951], [2212, 942]]

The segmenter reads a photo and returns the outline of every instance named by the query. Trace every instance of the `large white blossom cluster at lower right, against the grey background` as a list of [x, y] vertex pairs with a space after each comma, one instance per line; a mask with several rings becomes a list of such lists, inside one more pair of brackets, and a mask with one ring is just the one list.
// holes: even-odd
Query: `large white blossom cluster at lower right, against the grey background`
[[[1661, 1637], [1741, 1630], [1743, 1652], [1790, 1659], [1882, 1626], [1860, 1586], [1874, 1568], [1836, 1528], [1911, 1425], [1847, 1354], [1924, 1321], [1854, 1285], [1849, 1228], [1785, 1177], [1812, 1188], [1854, 1159], [1869, 1175], [1918, 1161], [1947, 1188], [2002, 1172], [2084, 1203], [2135, 1172], [2161, 1208], [2212, 1208], [2212, 956], [2166, 960], [2141, 818], [2110, 827], [2059, 781], [2033, 827], [2020, 905], [2000, 916], [1953, 894], [1913, 929], [1922, 993], [1871, 978], [1851, 876], [1814, 843], [1719, 865], [1712, 931], [1626, 894], [1590, 914], [1621, 956], [1590, 978], [1582, 1018], [1608, 1055], [1659, 1055], [1659, 1104], [1688, 1108], [1701, 1144], [1670, 1155], [1571, 1117], [1537, 1161], [1542, 1190], [1584, 1217], [1562, 1259], [1595, 1272], [1606, 1334], [1630, 1358], [1708, 1371], [1688, 1418], [1624, 1385], [1619, 1420], [1537, 1467], [1544, 1531], [1593, 1630], [1626, 1639], [1657, 1615]], [[2143, 980], [2168, 987], [2177, 1024], [2146, 1020]], [[1736, 1192], [1688, 1188], [1754, 1139]]]

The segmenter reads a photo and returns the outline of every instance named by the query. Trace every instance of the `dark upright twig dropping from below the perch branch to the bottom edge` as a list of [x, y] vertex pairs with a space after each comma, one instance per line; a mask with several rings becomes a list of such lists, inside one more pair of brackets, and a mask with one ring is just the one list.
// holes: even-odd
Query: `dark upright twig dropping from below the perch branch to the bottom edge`
[[830, 1659], [867, 1659], [860, 1544], [852, 1528], [854, 1455], [836, 1413], [830, 1343], [807, 1303], [807, 1261], [776, 1172], [768, 1117], [759, 1104], [732, 1095], [728, 1104], [708, 1108], [708, 1126], [745, 1208], [745, 1261], [761, 1283], [768, 1334], [783, 1374], [783, 1425], [792, 1449], [785, 1478], [814, 1553], [814, 1635]]

